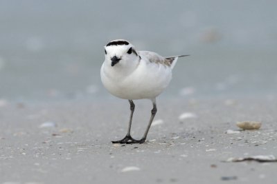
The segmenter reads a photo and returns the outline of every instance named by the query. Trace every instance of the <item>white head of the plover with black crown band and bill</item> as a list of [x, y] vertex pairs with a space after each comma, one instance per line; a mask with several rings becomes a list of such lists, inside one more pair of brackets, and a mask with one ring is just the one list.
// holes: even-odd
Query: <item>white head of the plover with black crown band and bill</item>
[[105, 45], [105, 61], [115, 65], [132, 65], [139, 58], [134, 45], [123, 39], [110, 41]]

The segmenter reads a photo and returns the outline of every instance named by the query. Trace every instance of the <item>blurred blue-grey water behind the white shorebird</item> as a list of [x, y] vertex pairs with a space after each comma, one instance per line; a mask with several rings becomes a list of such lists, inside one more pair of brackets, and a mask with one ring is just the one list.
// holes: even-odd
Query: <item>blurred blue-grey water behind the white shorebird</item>
[[179, 59], [165, 98], [272, 96], [277, 1], [0, 1], [0, 99], [105, 99], [103, 46]]

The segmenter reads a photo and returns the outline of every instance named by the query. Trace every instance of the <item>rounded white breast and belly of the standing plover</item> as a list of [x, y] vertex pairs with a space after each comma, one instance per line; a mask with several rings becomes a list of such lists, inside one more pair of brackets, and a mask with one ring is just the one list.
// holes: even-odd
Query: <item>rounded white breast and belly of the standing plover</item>
[[120, 99], [153, 99], [165, 90], [171, 80], [171, 69], [152, 63], [141, 63], [132, 74], [124, 76], [115, 68], [101, 68], [105, 88]]

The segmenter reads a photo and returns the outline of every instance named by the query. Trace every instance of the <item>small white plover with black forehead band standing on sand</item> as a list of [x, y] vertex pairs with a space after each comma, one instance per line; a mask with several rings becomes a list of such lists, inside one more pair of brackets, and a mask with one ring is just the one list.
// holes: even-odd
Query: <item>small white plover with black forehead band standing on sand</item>
[[[172, 68], [180, 55], [161, 57], [155, 52], [136, 51], [134, 45], [117, 39], [105, 45], [105, 61], [101, 67], [101, 80], [105, 88], [120, 99], [127, 99], [131, 114], [125, 138], [112, 143], [144, 143], [157, 112], [156, 97], [166, 89], [172, 77]], [[134, 113], [133, 100], [150, 99], [153, 104], [148, 127], [141, 140], [130, 135]]]

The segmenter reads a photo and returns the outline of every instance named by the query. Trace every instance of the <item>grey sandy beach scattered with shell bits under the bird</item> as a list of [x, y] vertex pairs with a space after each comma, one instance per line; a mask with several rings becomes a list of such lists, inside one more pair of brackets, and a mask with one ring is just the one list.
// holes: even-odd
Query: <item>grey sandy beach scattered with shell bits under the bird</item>
[[[7, 103], [0, 114], [0, 183], [275, 183], [277, 163], [224, 161], [276, 156], [276, 102], [161, 99], [141, 145], [111, 144], [125, 135], [127, 101]], [[149, 110], [150, 101], [136, 102], [136, 139]], [[237, 121], [262, 127], [241, 131]]]

